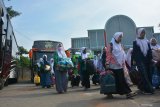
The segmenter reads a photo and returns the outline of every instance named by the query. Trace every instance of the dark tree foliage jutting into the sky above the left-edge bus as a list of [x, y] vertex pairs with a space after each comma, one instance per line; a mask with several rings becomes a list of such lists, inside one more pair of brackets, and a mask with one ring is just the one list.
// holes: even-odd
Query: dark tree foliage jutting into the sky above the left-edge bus
[[[7, 0], [7, 1], [10, 1], [10, 0]], [[6, 7], [6, 9], [7, 9], [7, 12], [9, 14], [9, 16], [10, 16], [10, 19], [12, 19], [12, 18], [14, 18], [14, 17], [19, 16], [19, 15], [22, 14], [21, 12], [18, 12], [16, 10], [14, 10], [12, 8], [12, 6]]]

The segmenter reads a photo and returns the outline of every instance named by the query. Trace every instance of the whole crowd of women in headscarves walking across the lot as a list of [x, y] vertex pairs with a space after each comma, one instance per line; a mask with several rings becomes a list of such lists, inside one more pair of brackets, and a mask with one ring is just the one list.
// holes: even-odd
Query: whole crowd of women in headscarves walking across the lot
[[[153, 94], [154, 88], [152, 84], [152, 75], [156, 70], [160, 74], [160, 46], [157, 44], [155, 38], [150, 41], [145, 36], [145, 29], [139, 28], [137, 30], [136, 40], [133, 41], [133, 48], [129, 49], [127, 54], [121, 44], [123, 32], [116, 32], [111, 42], [103, 48], [102, 53], [95, 57], [93, 61], [96, 72], [112, 71], [115, 78], [116, 94], [126, 95], [131, 98], [136, 95], [132, 92], [129, 85], [132, 84], [130, 78], [126, 79], [126, 69], [128, 70], [127, 76], [132, 67], [137, 67], [139, 71], [140, 80], [137, 84], [138, 89], [144, 94]], [[81, 55], [78, 59], [79, 74], [82, 81], [82, 86], [87, 90], [90, 88], [90, 71], [87, 69], [88, 54], [85, 47], [81, 50]], [[67, 92], [68, 86], [68, 72], [70, 69], [61, 69], [59, 61], [64, 58], [70, 57], [66, 54], [62, 43], [58, 44], [57, 50], [54, 53], [52, 63], [47, 61], [47, 56], [44, 55], [41, 59], [41, 85], [42, 87], [50, 87], [51, 80], [49, 79], [50, 73], [45, 71], [45, 66], [52, 64], [51, 71], [55, 76], [56, 90], [58, 93]], [[97, 60], [98, 59], [98, 60]], [[53, 64], [54, 63], [54, 64]], [[159, 75], [158, 74], [158, 75]], [[160, 76], [160, 75], [159, 75]], [[130, 83], [130, 84], [129, 84]], [[158, 87], [157, 87], [158, 88]], [[113, 97], [112, 94], [106, 93], [108, 97]]]

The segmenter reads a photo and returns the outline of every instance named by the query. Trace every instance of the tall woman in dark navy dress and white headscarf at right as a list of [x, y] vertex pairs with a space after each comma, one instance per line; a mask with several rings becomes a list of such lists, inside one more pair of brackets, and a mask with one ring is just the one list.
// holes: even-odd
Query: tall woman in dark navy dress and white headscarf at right
[[139, 28], [137, 31], [137, 38], [133, 41], [133, 52], [131, 64], [138, 67], [140, 71], [140, 81], [138, 88], [144, 94], [152, 94], [152, 51], [149, 41], [145, 37], [145, 29]]

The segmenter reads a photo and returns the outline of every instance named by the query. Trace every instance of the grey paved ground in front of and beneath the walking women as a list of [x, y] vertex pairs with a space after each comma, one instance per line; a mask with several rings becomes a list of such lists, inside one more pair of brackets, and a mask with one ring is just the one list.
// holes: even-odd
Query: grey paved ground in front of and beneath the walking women
[[99, 94], [99, 86], [88, 91], [69, 88], [65, 94], [57, 94], [55, 87], [41, 89], [34, 84], [19, 83], [0, 91], [0, 107], [160, 107], [160, 90], [154, 95], [139, 94], [134, 99], [119, 95], [107, 99]]

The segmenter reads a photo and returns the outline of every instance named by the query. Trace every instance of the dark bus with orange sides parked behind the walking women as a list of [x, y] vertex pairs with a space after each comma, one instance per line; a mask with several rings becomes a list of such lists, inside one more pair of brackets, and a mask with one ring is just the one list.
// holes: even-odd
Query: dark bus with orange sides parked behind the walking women
[[56, 51], [57, 45], [61, 43], [58, 41], [51, 40], [36, 40], [33, 43], [32, 49], [29, 52], [29, 57], [31, 61], [31, 82], [33, 82], [36, 64], [39, 62], [39, 59], [43, 57], [43, 55], [47, 55], [47, 59], [50, 60], [53, 58], [53, 54]]

